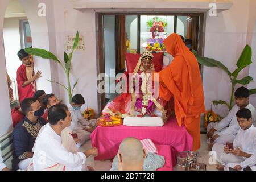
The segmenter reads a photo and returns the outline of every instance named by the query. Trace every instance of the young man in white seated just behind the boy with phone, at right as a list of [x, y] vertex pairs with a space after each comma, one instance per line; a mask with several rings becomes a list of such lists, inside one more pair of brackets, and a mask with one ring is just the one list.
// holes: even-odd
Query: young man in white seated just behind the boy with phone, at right
[[234, 96], [236, 105], [229, 111], [229, 114], [219, 123], [209, 123], [207, 126], [209, 143], [226, 144], [226, 142], [233, 142], [240, 129], [236, 113], [242, 108], [247, 108], [251, 111], [253, 125], [256, 126], [256, 110], [249, 102], [249, 90], [245, 87], [238, 88]]

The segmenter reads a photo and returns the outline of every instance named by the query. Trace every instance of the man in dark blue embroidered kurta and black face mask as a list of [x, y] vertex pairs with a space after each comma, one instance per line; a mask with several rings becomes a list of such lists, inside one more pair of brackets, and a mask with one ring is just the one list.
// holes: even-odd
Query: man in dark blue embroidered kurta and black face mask
[[35, 98], [26, 98], [21, 102], [22, 112], [26, 115], [13, 131], [14, 159], [13, 170], [26, 170], [30, 164], [32, 148], [39, 130], [46, 125], [42, 118], [44, 109]]

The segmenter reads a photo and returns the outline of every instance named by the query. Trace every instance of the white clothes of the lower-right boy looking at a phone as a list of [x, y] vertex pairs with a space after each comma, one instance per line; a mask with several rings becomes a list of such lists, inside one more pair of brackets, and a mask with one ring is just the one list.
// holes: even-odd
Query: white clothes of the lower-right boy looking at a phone
[[256, 165], [256, 128], [251, 125], [247, 130], [240, 129], [233, 142], [234, 149], [240, 149], [247, 154], [251, 154], [250, 158], [239, 157], [233, 154], [226, 154], [224, 152], [224, 145], [214, 144], [213, 151], [217, 153], [217, 160], [222, 164], [240, 163], [242, 168], [246, 166]]

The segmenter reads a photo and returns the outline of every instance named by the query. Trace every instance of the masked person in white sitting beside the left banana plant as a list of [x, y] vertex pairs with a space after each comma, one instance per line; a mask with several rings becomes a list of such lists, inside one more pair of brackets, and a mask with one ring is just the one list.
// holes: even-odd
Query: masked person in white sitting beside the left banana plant
[[84, 119], [81, 114], [81, 107], [85, 104], [84, 97], [81, 94], [76, 94], [72, 97], [71, 105], [68, 106], [68, 110], [72, 116], [71, 129], [73, 133], [77, 133], [78, 139], [77, 146], [80, 147], [86, 140], [90, 139], [90, 134], [93, 132], [96, 126], [96, 119], [90, 121]]

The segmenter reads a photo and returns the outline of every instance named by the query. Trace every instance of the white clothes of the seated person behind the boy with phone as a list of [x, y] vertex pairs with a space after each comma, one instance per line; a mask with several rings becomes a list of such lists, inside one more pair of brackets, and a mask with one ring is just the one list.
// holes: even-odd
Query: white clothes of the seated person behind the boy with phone
[[[250, 103], [246, 106], [247, 109], [251, 111], [252, 119], [253, 119], [253, 125], [256, 126], [256, 110], [253, 105]], [[214, 129], [217, 130], [217, 134], [219, 136], [222, 135], [236, 135], [238, 130], [240, 129], [236, 113], [240, 110], [240, 107], [235, 105], [230, 111], [229, 114], [223, 118], [217, 125], [214, 126]]]

